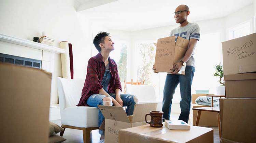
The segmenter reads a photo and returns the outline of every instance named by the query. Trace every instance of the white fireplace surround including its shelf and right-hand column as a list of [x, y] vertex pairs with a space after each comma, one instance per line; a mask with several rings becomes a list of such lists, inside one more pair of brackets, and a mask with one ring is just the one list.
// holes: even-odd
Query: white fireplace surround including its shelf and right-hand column
[[[61, 67], [55, 65], [55, 57], [66, 50], [42, 43], [0, 34], [0, 53], [41, 60], [41, 69], [52, 73], [50, 120], [60, 119], [57, 77]], [[54, 105], [54, 106], [53, 106]]]

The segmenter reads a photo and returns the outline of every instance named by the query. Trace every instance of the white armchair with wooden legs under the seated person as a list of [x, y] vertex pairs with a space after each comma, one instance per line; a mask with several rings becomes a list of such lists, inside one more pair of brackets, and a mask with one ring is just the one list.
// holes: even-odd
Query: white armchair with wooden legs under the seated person
[[[81, 98], [84, 79], [66, 79], [58, 77], [58, 94], [61, 127], [83, 130], [84, 143], [90, 141], [90, 131], [98, 129], [98, 113], [96, 107], [77, 107]], [[60, 132], [63, 136], [64, 131]]]

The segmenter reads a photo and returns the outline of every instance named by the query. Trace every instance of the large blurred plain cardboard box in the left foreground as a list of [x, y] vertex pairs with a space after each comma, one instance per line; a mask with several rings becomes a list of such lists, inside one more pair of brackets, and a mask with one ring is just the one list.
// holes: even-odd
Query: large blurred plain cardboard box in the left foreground
[[0, 142], [47, 143], [51, 73], [0, 62]]

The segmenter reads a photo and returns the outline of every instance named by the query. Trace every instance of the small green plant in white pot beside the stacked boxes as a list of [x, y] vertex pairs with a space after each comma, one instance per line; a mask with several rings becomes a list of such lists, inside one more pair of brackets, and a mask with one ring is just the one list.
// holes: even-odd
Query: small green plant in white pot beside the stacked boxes
[[220, 86], [216, 87], [216, 95], [225, 95], [225, 81], [223, 81], [223, 65], [221, 63], [215, 65], [215, 73], [213, 76], [219, 77], [219, 84]]

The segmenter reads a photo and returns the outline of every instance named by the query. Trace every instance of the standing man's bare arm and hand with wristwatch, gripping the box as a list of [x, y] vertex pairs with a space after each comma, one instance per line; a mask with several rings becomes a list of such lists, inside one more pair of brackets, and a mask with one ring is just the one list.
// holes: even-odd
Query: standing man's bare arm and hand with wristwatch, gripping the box
[[[197, 39], [190, 39], [189, 43], [188, 43], [188, 48], [187, 51], [184, 55], [184, 57], [181, 59], [184, 62], [187, 62], [188, 59], [191, 57], [191, 55], [193, 54], [195, 48], [196, 48], [196, 44], [197, 44]], [[174, 70], [171, 73], [175, 73], [177, 74], [182, 68], [182, 63], [181, 62], [176, 62], [173, 64], [173, 67], [170, 70]]]

